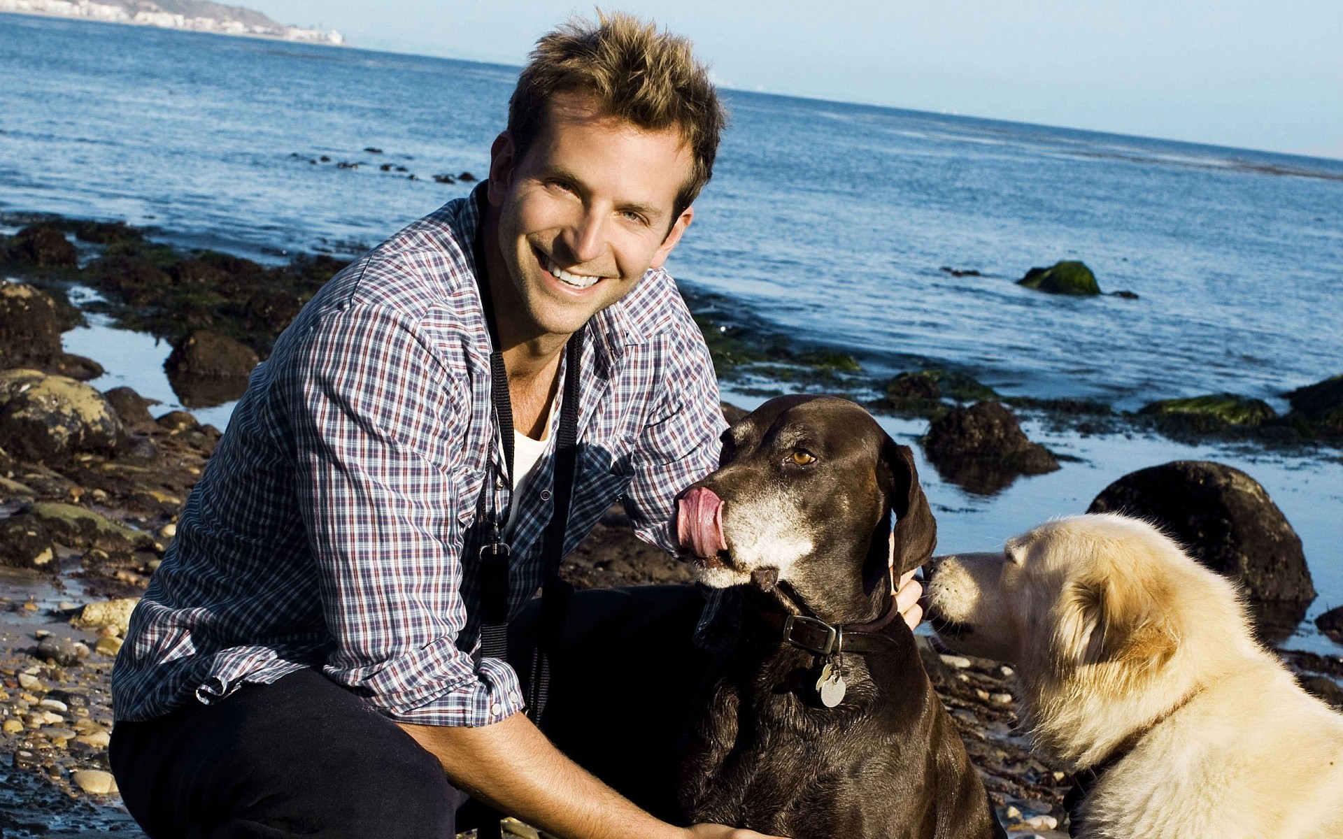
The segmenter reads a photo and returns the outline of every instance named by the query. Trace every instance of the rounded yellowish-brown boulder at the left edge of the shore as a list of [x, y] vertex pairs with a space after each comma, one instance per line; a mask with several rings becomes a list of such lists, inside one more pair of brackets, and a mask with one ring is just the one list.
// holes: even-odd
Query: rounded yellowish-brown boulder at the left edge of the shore
[[0, 446], [31, 460], [63, 463], [78, 452], [111, 452], [122, 435], [102, 393], [66, 376], [0, 372]]

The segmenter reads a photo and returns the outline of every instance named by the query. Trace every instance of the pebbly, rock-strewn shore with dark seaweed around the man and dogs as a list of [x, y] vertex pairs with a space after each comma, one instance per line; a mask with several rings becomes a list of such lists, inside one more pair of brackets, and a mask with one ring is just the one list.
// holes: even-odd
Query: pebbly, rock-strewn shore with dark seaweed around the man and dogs
[[[163, 337], [175, 348], [168, 372], [181, 403], [219, 404], [242, 392], [247, 372], [269, 354], [299, 306], [345, 263], [302, 256], [262, 266], [226, 254], [187, 254], [120, 223], [0, 221], [24, 226], [15, 236], [0, 236], [0, 279], [23, 281], [0, 285], [0, 835], [138, 835], [118, 809], [107, 773], [107, 678], [129, 608], [171, 544], [219, 431], [183, 411], [156, 416], [129, 388], [99, 392], [83, 384], [101, 366], [66, 354], [60, 333], [95, 310], [120, 326]], [[102, 301], [75, 307], [75, 286], [94, 289]], [[720, 298], [688, 298], [721, 376], [761, 392], [823, 387], [878, 412], [928, 417], [925, 452], [948, 481], [971, 491], [991, 494], [1005, 486], [1005, 475], [1010, 483], [1018, 474], [1060, 468], [1058, 458], [1026, 439], [1014, 409], [1073, 426], [1162, 427], [1160, 413], [1005, 399], [951, 371], [873, 381], [850, 356], [799, 349], [764, 325], [729, 317]], [[1252, 411], [1246, 416], [1258, 416], [1254, 426], [1218, 419], [1221, 426], [1190, 420], [1164, 428], [1338, 447], [1338, 381], [1303, 388], [1285, 417]], [[1183, 524], [1170, 501], [1144, 489], [1140, 474], [1116, 482], [1093, 507], [1148, 502], [1150, 513], [1167, 515], [1172, 529], [1218, 533], [1218, 545], [1199, 558], [1252, 583], [1262, 603], [1299, 604], [1313, 596], [1304, 558], [1293, 558], [1300, 540], [1292, 554], [1295, 533], [1281, 513], [1272, 515], [1276, 507], [1262, 487], [1229, 467], [1170, 466], [1171, 474], [1151, 481], [1171, 497], [1189, 498], [1179, 481], [1213, 487]], [[1256, 565], [1256, 552], [1269, 552], [1276, 565]], [[564, 573], [579, 587], [689, 580], [682, 565], [634, 538], [619, 507], [571, 554]], [[1343, 656], [1283, 655], [1309, 690], [1343, 707]], [[1017, 729], [1011, 669], [940, 655], [931, 646], [924, 663], [1009, 830], [1065, 835], [1062, 797], [1070, 780], [1031, 756]], [[512, 830], [535, 835], [520, 824]]]

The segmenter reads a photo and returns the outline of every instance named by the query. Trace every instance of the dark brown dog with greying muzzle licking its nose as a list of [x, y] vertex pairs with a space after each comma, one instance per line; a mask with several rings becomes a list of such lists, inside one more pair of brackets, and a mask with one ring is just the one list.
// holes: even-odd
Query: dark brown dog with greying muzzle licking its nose
[[908, 447], [850, 401], [771, 400], [724, 435], [677, 530], [740, 619], [682, 764], [690, 820], [796, 839], [1006, 835], [894, 608], [894, 577], [936, 544]]

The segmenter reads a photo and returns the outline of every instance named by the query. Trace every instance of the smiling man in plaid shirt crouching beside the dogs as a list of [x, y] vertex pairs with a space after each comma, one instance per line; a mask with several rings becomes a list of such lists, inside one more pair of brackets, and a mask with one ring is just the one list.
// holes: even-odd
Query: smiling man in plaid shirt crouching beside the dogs
[[[547, 573], [565, 404], [577, 479], [560, 554], [618, 497], [672, 549], [676, 493], [716, 464], [712, 365], [662, 264], [723, 124], [686, 42], [627, 16], [563, 27], [522, 71], [489, 180], [305, 306], [113, 674], [113, 771], [150, 836], [450, 836], [461, 791], [559, 836], [757, 836], [673, 827], [572, 762], [479, 643], [486, 560], [508, 557], [506, 616]], [[663, 589], [568, 608], [587, 642], [557, 652], [547, 730], [596, 749], [588, 765], [622, 788], [669, 785], [666, 733], [694, 685], [658, 679], [698, 663], [637, 652], [689, 635], [688, 604]], [[547, 631], [535, 611], [514, 646]], [[646, 732], [651, 753], [631, 752]]]

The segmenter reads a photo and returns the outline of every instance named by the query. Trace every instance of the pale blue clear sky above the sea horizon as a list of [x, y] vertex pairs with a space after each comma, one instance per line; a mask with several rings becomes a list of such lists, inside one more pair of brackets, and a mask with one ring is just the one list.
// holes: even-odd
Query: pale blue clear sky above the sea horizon
[[[232, 0], [356, 47], [521, 64], [594, 5]], [[1272, 8], [1270, 8], [1272, 7]], [[1343, 158], [1343, 0], [620, 0], [739, 90]]]

